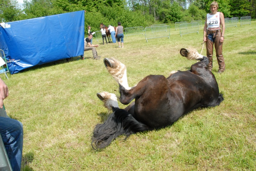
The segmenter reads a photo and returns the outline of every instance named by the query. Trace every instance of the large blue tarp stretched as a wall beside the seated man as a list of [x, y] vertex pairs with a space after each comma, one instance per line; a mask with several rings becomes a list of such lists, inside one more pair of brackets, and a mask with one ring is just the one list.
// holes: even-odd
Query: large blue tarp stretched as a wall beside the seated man
[[[84, 55], [84, 11], [1, 23], [0, 49], [11, 74]], [[18, 61], [20, 60], [20, 61]]]

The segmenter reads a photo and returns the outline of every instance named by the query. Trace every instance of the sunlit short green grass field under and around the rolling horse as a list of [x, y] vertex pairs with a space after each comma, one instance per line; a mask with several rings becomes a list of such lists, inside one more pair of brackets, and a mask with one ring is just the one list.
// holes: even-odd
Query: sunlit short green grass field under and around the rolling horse
[[9, 75], [9, 80], [2, 74], [9, 87], [7, 114], [24, 125], [22, 170], [256, 170], [255, 28], [256, 21], [226, 28], [226, 71], [217, 74], [216, 57], [212, 70], [225, 98], [220, 106], [193, 110], [164, 129], [120, 137], [101, 151], [92, 150], [91, 136], [108, 111], [96, 93], [119, 95], [103, 59], [116, 57], [127, 66], [129, 86], [149, 74], [167, 77], [196, 62], [179, 51], [194, 47], [200, 53], [203, 27], [199, 34], [182, 37], [172, 27], [170, 39], [148, 43], [143, 35], [124, 37], [123, 49], [99, 40], [100, 60], [87, 51], [85, 60], [36, 66]]

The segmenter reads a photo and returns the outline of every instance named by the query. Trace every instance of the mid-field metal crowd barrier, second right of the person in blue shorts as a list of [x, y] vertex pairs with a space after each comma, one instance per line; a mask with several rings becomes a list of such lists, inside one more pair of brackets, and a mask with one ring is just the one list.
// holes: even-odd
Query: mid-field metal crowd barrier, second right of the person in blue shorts
[[155, 26], [155, 27], [146, 27], [145, 28], [145, 39], [148, 42], [148, 39], [168, 37], [170, 39], [170, 26]]

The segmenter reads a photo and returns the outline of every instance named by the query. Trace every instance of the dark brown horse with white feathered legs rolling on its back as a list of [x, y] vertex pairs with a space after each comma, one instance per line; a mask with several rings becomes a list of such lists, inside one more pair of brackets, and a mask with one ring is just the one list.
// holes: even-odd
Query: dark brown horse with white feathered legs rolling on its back
[[180, 50], [189, 60], [199, 60], [188, 71], [177, 71], [165, 78], [163, 75], [148, 75], [133, 87], [128, 86], [126, 67], [116, 59], [105, 58], [104, 64], [119, 84], [122, 104], [120, 109], [115, 94], [97, 93], [104, 106], [113, 111], [103, 124], [95, 126], [92, 148], [108, 146], [113, 139], [124, 134], [154, 130], [172, 125], [182, 115], [198, 107], [214, 107], [223, 100], [215, 76], [207, 69], [209, 59], [195, 49]]

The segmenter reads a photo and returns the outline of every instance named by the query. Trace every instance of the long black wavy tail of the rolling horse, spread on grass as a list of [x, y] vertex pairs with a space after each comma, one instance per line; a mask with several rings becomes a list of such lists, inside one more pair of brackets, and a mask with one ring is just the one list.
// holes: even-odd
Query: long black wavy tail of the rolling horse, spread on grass
[[113, 139], [124, 134], [129, 137], [136, 132], [143, 132], [150, 128], [137, 121], [124, 109], [117, 109], [103, 124], [95, 126], [92, 135], [92, 148], [101, 149], [108, 146]]

